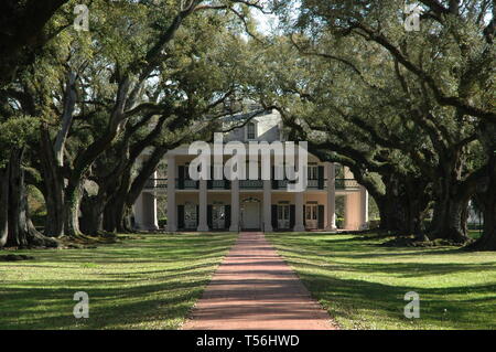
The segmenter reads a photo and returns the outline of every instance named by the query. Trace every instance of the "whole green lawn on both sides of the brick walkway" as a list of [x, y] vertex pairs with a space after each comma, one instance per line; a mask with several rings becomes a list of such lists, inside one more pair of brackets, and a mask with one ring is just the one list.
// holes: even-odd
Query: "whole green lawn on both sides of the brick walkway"
[[[0, 329], [177, 329], [235, 234], [132, 235], [95, 249], [4, 250]], [[496, 329], [496, 255], [391, 248], [389, 238], [276, 233], [267, 237], [343, 329]], [[89, 319], [75, 319], [76, 291]], [[420, 295], [420, 319], [403, 316]]]

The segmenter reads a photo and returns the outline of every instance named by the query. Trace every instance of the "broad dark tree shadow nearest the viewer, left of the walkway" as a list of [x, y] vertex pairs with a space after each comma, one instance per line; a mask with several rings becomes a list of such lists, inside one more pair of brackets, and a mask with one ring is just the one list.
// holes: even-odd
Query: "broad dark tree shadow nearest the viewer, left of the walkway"
[[[212, 269], [166, 276], [157, 284], [141, 280], [54, 280], [43, 288], [32, 284], [2, 288], [0, 329], [111, 329], [133, 328], [147, 319], [181, 320], [208, 284]], [[110, 287], [104, 287], [104, 286]], [[23, 288], [25, 286], [25, 288]], [[40, 286], [35, 284], [34, 286]], [[75, 319], [76, 291], [89, 296], [89, 319]], [[169, 327], [174, 328], [174, 327]]]

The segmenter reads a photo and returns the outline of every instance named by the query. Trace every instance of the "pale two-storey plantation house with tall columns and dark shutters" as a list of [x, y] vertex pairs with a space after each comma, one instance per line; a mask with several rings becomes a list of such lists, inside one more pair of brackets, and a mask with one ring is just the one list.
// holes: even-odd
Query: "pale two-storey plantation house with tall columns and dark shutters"
[[[248, 116], [231, 116], [225, 124], [246, 121]], [[246, 145], [250, 141], [270, 143], [278, 140], [284, 141], [284, 129], [276, 110], [256, 116], [224, 136], [224, 142], [241, 141]], [[141, 158], [147, 158], [147, 154]], [[335, 231], [336, 196], [345, 198], [344, 228], [362, 230], [367, 226], [367, 191], [354, 180], [347, 168], [339, 172], [344, 178], [336, 179], [336, 170], [341, 166], [322, 162], [309, 153], [306, 190], [290, 192], [287, 189], [289, 180], [276, 180], [273, 177], [271, 180], [260, 177], [258, 180], [195, 181], [188, 174], [188, 166], [195, 158], [195, 154], [188, 153], [188, 146], [168, 152], [166, 179], [158, 178], [155, 172], [134, 203], [137, 228], [158, 228], [157, 195], [161, 192], [166, 192], [168, 231], [171, 232]], [[222, 158], [226, 162], [231, 156]], [[277, 167], [272, 156], [271, 175]]]

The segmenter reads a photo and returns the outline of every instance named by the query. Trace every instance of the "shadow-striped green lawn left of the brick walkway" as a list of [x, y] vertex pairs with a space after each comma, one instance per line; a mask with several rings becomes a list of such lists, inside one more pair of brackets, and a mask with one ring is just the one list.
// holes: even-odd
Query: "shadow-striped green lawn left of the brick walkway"
[[[15, 250], [0, 263], [0, 329], [177, 329], [235, 234], [132, 235], [95, 249]], [[76, 291], [89, 318], [75, 319]]]

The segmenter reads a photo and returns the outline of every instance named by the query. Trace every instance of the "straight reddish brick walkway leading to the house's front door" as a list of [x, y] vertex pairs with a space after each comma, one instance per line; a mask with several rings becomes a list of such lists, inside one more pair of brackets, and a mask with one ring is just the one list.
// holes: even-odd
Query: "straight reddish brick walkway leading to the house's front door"
[[185, 330], [336, 329], [262, 233], [241, 233]]

